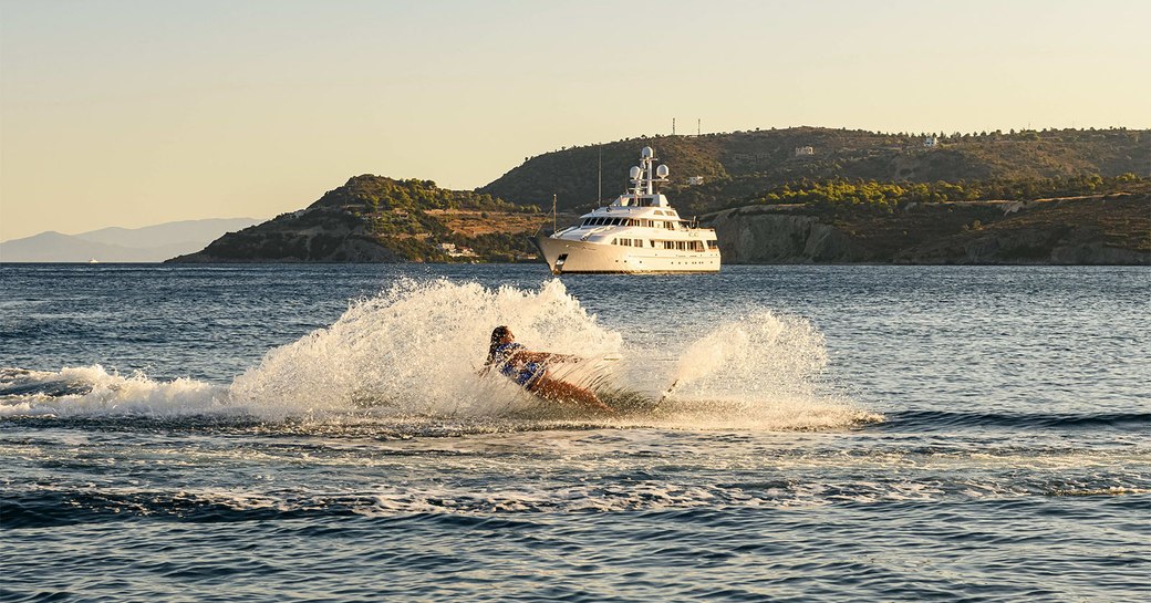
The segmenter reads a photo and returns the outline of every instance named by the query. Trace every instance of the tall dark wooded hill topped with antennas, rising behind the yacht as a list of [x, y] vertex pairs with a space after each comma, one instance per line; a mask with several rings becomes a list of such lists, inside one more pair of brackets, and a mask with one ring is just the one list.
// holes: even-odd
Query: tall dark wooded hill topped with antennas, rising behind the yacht
[[[935, 145], [924, 139], [935, 136]], [[1151, 175], [1149, 130], [1024, 130], [1020, 132], [883, 133], [830, 128], [788, 128], [703, 136], [633, 138], [525, 158], [498, 180], [477, 189], [516, 204], [577, 209], [595, 205], [602, 161], [603, 196], [627, 186], [627, 170], [642, 146], [671, 168], [663, 189], [684, 215], [739, 205], [787, 183], [818, 180], [966, 182], [1075, 175]], [[810, 154], [796, 150], [810, 147]], [[702, 184], [688, 184], [701, 176]]]

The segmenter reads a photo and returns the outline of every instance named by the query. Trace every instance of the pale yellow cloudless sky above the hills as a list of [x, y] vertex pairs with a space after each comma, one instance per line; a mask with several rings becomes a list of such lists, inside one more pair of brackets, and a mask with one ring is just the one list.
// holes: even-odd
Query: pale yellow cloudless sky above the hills
[[641, 135], [1151, 128], [1151, 2], [0, 0], [0, 241]]

